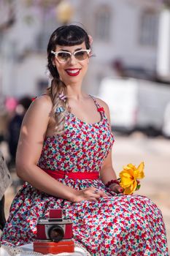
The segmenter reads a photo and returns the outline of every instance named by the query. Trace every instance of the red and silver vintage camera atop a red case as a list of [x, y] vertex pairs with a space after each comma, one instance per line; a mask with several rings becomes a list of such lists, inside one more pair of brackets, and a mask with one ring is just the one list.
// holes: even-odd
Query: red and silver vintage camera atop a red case
[[63, 219], [62, 214], [62, 209], [50, 209], [49, 219], [39, 218], [36, 238], [55, 242], [72, 239], [72, 220]]

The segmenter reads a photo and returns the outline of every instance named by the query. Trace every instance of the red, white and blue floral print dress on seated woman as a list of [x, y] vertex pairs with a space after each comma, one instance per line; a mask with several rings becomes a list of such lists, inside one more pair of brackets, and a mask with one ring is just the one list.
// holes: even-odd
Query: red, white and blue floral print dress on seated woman
[[[93, 97], [101, 121], [87, 124], [66, 114], [63, 135], [47, 136], [39, 167], [53, 172], [99, 173], [114, 142], [104, 109]], [[150, 199], [140, 195], [117, 195], [97, 178], [58, 181], [74, 189], [96, 187], [109, 197], [98, 202], [72, 203], [47, 195], [27, 182], [15, 196], [4, 227], [1, 244], [19, 246], [36, 239], [39, 217], [48, 217], [50, 208], [63, 208], [63, 217], [73, 221], [74, 241], [93, 256], [168, 256], [166, 230], [161, 211]]]

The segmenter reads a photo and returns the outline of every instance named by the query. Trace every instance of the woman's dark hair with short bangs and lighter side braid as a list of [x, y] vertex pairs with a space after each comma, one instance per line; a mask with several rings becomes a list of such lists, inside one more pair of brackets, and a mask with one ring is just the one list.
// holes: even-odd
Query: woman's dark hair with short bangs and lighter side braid
[[[69, 109], [68, 99], [62, 101], [59, 98], [59, 94], [63, 92], [64, 95], [67, 94], [66, 85], [61, 81], [58, 70], [53, 66], [53, 53], [51, 50], [55, 51], [56, 45], [62, 46], [72, 46], [72, 45], [81, 45], [82, 42], [85, 42], [87, 49], [90, 49], [90, 41], [87, 32], [77, 25], [68, 25], [60, 26], [58, 29], [53, 31], [53, 34], [50, 37], [50, 40], [47, 45], [47, 68], [50, 71], [52, 76], [51, 86], [47, 89], [47, 94], [50, 95], [50, 98], [53, 102], [53, 117], [55, 118], [56, 134], [63, 133], [63, 126], [65, 122], [66, 112]], [[63, 112], [56, 113], [55, 110], [59, 107], [63, 108]]]

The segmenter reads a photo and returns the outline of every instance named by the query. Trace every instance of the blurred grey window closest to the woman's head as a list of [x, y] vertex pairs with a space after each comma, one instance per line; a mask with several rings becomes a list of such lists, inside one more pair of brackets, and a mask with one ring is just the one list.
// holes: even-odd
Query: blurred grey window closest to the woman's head
[[102, 5], [95, 15], [96, 39], [107, 41], [110, 38], [111, 12], [108, 6]]

